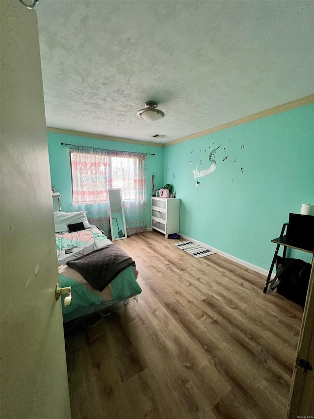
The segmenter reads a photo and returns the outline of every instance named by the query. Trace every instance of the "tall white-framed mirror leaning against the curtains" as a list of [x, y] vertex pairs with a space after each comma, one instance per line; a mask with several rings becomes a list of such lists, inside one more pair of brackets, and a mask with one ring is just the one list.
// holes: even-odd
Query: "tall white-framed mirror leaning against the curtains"
[[127, 238], [121, 189], [108, 189], [111, 240]]

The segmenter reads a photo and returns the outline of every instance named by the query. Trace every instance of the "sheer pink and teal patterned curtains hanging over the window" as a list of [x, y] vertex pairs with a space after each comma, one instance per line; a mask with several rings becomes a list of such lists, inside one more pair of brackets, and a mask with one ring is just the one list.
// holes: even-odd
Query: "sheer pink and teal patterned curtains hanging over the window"
[[146, 230], [146, 155], [75, 146], [73, 208], [109, 232], [108, 189], [122, 190], [127, 234]]

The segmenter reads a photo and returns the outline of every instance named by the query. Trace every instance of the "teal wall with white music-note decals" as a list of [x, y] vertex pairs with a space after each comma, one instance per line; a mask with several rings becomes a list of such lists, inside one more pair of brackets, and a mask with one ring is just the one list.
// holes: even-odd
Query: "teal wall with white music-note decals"
[[[166, 147], [164, 183], [181, 198], [180, 232], [268, 270], [270, 240], [289, 212], [314, 203], [313, 133], [311, 104]], [[216, 170], [195, 180], [192, 169], [209, 168], [221, 143]]]

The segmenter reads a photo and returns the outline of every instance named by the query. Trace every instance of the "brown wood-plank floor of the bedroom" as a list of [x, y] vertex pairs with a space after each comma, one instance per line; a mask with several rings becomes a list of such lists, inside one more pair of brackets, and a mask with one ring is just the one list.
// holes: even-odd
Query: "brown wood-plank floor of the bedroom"
[[72, 418], [284, 418], [302, 308], [157, 232], [116, 243], [143, 291], [66, 334]]

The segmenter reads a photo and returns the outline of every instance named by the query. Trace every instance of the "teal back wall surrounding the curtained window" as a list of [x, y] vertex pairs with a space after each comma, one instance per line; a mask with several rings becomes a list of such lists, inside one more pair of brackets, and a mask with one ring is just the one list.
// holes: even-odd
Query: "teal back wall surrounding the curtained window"
[[147, 226], [151, 226], [151, 195], [152, 174], [155, 173], [155, 190], [163, 186], [163, 154], [162, 147], [130, 144], [109, 140], [98, 140], [73, 135], [48, 133], [48, 150], [51, 171], [52, 186], [60, 192], [62, 211], [72, 212], [72, 186], [70, 156], [68, 148], [61, 145], [66, 142], [86, 147], [104, 148], [107, 150], [130, 151], [134, 153], [155, 153], [155, 156], [147, 156]]

